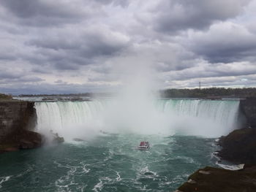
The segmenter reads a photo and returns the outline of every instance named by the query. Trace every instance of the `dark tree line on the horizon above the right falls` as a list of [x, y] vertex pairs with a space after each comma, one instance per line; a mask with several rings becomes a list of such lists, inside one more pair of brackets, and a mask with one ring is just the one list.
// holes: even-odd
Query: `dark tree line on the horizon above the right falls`
[[220, 99], [221, 97], [246, 98], [256, 97], [256, 88], [195, 88], [195, 89], [167, 89], [160, 91], [164, 98], [194, 97]]

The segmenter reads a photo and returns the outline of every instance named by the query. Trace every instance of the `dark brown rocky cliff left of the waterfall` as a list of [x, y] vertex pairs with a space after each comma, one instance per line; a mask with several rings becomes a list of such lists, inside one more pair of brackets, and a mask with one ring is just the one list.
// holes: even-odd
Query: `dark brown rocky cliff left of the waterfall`
[[34, 118], [33, 102], [0, 101], [0, 153], [42, 145], [41, 135], [30, 131]]

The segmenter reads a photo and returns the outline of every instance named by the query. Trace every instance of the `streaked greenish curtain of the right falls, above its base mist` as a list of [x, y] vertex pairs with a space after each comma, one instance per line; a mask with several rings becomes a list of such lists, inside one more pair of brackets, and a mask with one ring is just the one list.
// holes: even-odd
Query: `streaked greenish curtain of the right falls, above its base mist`
[[234, 129], [238, 120], [240, 101], [200, 100], [200, 99], [168, 99], [160, 100], [159, 110], [180, 118], [197, 118]]

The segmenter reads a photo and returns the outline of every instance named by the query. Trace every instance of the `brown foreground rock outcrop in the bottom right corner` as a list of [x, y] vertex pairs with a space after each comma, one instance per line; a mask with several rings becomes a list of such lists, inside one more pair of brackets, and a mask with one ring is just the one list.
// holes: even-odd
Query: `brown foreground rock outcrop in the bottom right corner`
[[231, 171], [206, 166], [189, 176], [176, 192], [255, 192], [256, 166]]

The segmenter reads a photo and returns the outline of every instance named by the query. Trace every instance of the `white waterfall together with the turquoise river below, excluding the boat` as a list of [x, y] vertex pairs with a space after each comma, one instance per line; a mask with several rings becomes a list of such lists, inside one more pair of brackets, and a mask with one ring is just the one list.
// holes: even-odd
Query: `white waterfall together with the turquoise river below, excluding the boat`
[[[66, 142], [2, 154], [0, 191], [174, 191], [217, 166], [214, 138], [235, 128], [239, 101], [158, 100], [144, 117], [130, 105], [37, 102], [37, 130]], [[142, 140], [150, 150], [136, 150]]]

